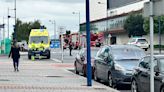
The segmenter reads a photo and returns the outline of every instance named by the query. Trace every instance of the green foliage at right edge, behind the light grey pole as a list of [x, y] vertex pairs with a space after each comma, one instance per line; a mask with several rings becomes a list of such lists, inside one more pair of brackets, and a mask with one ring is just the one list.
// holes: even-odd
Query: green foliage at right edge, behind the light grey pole
[[[159, 31], [159, 16], [155, 16], [154, 17], [154, 33], [158, 33]], [[150, 29], [149, 29], [149, 18], [145, 18], [144, 19], [144, 30], [146, 33], [149, 33], [150, 32]], [[161, 33], [164, 32], [164, 16], [160, 16], [160, 25], [161, 25]]]

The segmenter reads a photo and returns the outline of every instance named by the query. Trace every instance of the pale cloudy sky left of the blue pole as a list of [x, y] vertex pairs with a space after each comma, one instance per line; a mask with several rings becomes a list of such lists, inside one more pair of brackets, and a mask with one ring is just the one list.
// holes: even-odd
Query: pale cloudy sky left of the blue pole
[[[14, 10], [12, 10], [14, 0], [0, 0], [0, 24], [3, 23], [4, 17], [6, 32], [8, 8], [10, 9], [9, 15], [14, 17]], [[54, 24], [49, 20], [55, 20], [57, 31], [60, 26], [63, 26], [65, 30], [77, 32], [79, 15], [73, 12], [80, 12], [80, 21], [83, 22], [85, 20], [85, 0], [17, 0], [17, 18], [23, 22], [40, 20], [42, 25], [47, 27], [50, 35], [54, 34]], [[13, 32], [14, 20], [10, 18], [10, 34]]]

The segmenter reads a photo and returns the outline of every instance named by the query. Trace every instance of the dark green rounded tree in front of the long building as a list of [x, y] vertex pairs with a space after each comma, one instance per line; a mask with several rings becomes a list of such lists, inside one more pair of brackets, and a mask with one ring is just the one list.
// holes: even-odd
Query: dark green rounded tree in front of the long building
[[128, 36], [142, 36], [146, 32], [143, 29], [144, 19], [140, 14], [131, 14], [125, 21], [124, 29], [128, 32]]

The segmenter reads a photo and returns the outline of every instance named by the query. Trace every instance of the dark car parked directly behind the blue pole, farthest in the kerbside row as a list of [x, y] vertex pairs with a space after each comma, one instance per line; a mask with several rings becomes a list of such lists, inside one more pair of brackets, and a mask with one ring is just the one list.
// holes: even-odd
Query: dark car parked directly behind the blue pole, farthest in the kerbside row
[[[99, 48], [91, 48], [91, 66], [93, 70], [93, 62], [94, 58], [97, 54]], [[83, 76], [86, 76], [86, 65], [87, 65], [87, 50], [83, 48], [79, 51], [75, 58], [74, 66], [75, 66], [75, 73], [83, 73]], [[93, 73], [92, 73], [93, 74]]]

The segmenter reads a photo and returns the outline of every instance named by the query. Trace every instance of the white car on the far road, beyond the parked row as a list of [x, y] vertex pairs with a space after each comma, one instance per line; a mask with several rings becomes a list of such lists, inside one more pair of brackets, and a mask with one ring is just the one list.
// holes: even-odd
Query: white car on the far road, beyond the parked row
[[145, 51], [147, 51], [149, 48], [149, 43], [145, 38], [132, 38], [129, 40], [128, 44], [138, 46], [142, 49], [145, 49]]

